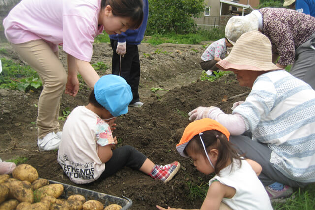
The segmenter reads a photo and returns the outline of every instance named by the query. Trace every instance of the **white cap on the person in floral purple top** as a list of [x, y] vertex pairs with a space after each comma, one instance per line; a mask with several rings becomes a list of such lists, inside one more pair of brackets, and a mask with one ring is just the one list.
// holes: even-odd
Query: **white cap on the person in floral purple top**
[[233, 16], [226, 23], [225, 37], [234, 45], [243, 33], [258, 30], [258, 26], [258, 18], [254, 13], [245, 16]]

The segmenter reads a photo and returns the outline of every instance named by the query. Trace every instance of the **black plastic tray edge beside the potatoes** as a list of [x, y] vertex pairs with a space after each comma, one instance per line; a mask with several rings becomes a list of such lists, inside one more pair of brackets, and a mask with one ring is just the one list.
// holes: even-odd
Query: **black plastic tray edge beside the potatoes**
[[81, 187], [75, 187], [53, 180], [49, 180], [49, 183], [62, 184], [64, 186], [63, 194], [60, 196], [61, 198], [67, 199], [70, 195], [80, 194], [83, 195], [86, 198], [86, 200], [97, 200], [102, 202], [102, 204], [104, 204], [104, 208], [110, 204], [118, 204], [123, 207], [121, 210], [127, 210], [132, 206], [131, 199], [125, 196], [123, 196], [124, 198], [120, 198], [113, 195], [107, 195], [105, 193], [95, 192]]

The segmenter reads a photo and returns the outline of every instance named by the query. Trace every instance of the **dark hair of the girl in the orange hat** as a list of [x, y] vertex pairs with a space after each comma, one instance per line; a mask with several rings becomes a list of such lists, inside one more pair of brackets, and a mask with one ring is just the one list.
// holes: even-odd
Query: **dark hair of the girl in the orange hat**
[[[233, 149], [232, 144], [227, 140], [226, 136], [217, 130], [207, 130], [201, 134], [203, 143], [205, 144], [206, 150], [209, 153], [211, 149], [218, 150], [218, 158], [215, 164], [215, 173], [219, 172], [226, 167], [227, 162], [231, 162], [232, 168], [234, 167], [233, 159], [239, 161], [239, 166], [241, 166], [241, 159], [236, 150]], [[195, 153], [202, 154], [206, 159], [206, 154], [203, 149], [199, 135], [195, 135], [187, 144], [184, 150], [184, 154], [188, 156], [187, 150]]]

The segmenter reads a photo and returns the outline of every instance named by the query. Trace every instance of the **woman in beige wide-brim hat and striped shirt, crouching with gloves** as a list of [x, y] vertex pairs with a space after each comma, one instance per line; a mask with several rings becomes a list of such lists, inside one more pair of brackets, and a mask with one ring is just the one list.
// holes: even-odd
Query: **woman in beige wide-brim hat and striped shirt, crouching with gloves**
[[189, 120], [211, 118], [225, 126], [240, 153], [262, 166], [259, 179], [274, 200], [291, 195], [291, 187], [315, 182], [315, 91], [271, 60], [265, 35], [241, 35], [217, 66], [233, 71], [241, 86], [252, 88], [250, 94], [232, 114], [197, 107]]

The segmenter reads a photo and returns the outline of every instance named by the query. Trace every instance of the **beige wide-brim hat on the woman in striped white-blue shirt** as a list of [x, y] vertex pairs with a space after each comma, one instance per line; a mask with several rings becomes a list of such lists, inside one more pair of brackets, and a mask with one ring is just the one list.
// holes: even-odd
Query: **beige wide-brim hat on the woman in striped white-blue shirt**
[[223, 71], [272, 71], [281, 69], [272, 63], [271, 43], [267, 36], [253, 30], [241, 35], [229, 56], [216, 66]]

